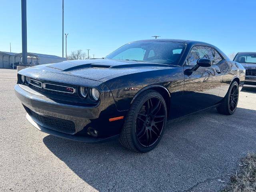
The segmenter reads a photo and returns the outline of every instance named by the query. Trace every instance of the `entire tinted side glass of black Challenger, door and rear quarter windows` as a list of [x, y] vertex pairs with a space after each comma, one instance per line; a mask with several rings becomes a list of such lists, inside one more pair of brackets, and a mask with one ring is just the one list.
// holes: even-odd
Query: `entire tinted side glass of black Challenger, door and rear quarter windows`
[[222, 60], [222, 57], [214, 48], [207, 46], [194, 46], [187, 56], [186, 64], [194, 66], [200, 58], [210, 59], [213, 65], [218, 64]]

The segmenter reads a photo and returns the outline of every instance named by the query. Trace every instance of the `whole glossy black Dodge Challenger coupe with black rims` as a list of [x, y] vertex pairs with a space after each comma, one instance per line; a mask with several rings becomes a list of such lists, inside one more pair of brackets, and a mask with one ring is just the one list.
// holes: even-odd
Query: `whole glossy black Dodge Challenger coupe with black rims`
[[216, 107], [235, 112], [245, 69], [211, 44], [156, 39], [105, 58], [20, 70], [15, 86], [38, 130], [94, 143], [119, 137], [134, 151], [160, 141], [167, 120]]

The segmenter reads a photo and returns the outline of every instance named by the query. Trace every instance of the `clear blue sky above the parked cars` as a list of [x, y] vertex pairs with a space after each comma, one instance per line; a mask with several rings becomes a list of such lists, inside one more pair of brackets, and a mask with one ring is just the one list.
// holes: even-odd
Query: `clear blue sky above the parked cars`
[[[153, 35], [255, 52], [255, 20], [256, 0], [64, 0], [68, 54], [96, 58]], [[22, 52], [20, 0], [1, 0], [0, 22], [0, 51]], [[62, 0], [27, 0], [27, 38], [28, 52], [62, 55]]]

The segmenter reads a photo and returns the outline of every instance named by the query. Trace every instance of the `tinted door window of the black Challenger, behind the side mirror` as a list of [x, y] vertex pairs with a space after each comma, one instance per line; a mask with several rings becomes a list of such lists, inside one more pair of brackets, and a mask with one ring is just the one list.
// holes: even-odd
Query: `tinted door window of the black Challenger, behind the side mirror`
[[212, 53], [212, 48], [206, 46], [194, 46], [187, 56], [186, 64], [194, 66], [196, 65], [197, 60], [200, 58], [207, 58], [213, 61], [214, 56]]

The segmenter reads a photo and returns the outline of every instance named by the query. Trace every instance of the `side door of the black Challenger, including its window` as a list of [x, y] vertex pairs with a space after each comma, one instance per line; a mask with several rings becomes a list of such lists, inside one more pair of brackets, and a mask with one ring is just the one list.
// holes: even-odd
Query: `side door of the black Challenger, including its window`
[[[187, 73], [186, 70], [195, 66], [200, 58], [212, 60], [212, 66], [199, 67], [191, 74]], [[220, 102], [219, 92], [223, 75], [218, 63], [221, 60], [220, 54], [209, 46], [194, 46], [190, 50], [184, 65], [182, 102], [184, 115], [203, 110]]]

